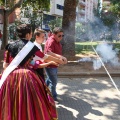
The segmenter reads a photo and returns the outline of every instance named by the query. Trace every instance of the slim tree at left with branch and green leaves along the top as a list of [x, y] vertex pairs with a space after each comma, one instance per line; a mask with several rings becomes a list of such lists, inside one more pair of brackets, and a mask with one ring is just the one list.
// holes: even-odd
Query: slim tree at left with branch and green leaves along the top
[[[33, 4], [34, 3], [34, 4]], [[15, 11], [16, 8], [20, 8], [21, 5], [32, 5], [35, 10], [48, 10], [50, 5], [50, 0], [0, 0], [0, 5], [4, 7], [4, 10], [0, 11], [0, 14], [3, 15], [3, 41], [2, 49], [8, 43], [8, 19], [9, 15]]]

